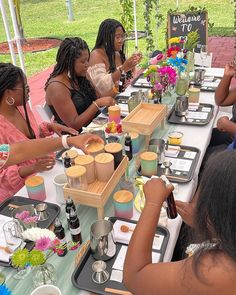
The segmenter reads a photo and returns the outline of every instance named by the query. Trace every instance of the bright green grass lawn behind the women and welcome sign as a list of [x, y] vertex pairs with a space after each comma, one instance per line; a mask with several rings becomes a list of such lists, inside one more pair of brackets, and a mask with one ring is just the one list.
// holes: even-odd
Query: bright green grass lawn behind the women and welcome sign
[[[7, 8], [7, 0], [3, 0]], [[176, 1], [160, 0], [160, 11], [166, 16], [167, 11], [175, 9]], [[98, 26], [105, 18], [120, 20], [121, 8], [119, 0], [73, 0], [75, 20], [67, 21], [67, 8], [65, 0], [22, 0], [21, 17], [26, 38], [56, 37], [64, 39], [68, 36], [80, 36], [85, 39], [92, 49]], [[179, 11], [192, 5], [191, 0], [179, 0]], [[234, 6], [231, 0], [196, 0], [194, 6], [206, 7], [210, 22], [214, 28], [209, 35], [233, 36]], [[9, 16], [10, 20], [10, 16]], [[143, 1], [137, 0], [138, 30], [144, 29]], [[154, 24], [153, 24], [154, 26]], [[158, 30], [158, 48], [165, 46], [166, 21]], [[2, 18], [0, 19], [0, 42], [6, 41]], [[144, 39], [139, 40], [139, 48], [145, 52]], [[128, 42], [128, 54], [134, 50], [133, 41]], [[45, 52], [26, 53], [25, 64], [27, 76], [31, 76], [48, 68], [55, 62], [57, 48]], [[10, 55], [0, 55], [1, 62], [10, 62]]]

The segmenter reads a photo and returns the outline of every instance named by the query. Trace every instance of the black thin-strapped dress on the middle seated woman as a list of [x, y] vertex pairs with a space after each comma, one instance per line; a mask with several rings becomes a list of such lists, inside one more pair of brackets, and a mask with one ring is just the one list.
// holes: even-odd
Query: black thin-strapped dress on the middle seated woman
[[[61, 81], [57, 81], [57, 80], [49, 82], [48, 85], [50, 85], [52, 83], [60, 83], [60, 84], [64, 85], [70, 91], [71, 100], [76, 108], [78, 115], [80, 115], [84, 111], [86, 111], [87, 108], [93, 103], [93, 101], [95, 101], [97, 99], [97, 95], [96, 95], [94, 88], [92, 87], [91, 83], [86, 78], [83, 78], [83, 77], [78, 78], [78, 85], [79, 85], [78, 90], [73, 89], [73, 88], [69, 88], [69, 87], [67, 87], [67, 85], [65, 83], [63, 83]], [[57, 114], [55, 108], [52, 105], [49, 105], [49, 108], [51, 109], [51, 111], [54, 115], [55, 121], [59, 124], [66, 125], [61, 120], [59, 115]], [[94, 118], [96, 116], [98, 116], [98, 114], [99, 114], [99, 112], [97, 112], [95, 114]], [[89, 123], [90, 122], [88, 122], [88, 124]], [[82, 129], [80, 129], [78, 131], [81, 132]]]

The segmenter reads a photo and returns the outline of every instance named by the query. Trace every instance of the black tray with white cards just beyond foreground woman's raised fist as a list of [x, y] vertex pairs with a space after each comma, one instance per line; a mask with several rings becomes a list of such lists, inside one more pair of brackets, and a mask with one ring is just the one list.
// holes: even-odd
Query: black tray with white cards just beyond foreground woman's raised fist
[[[184, 154], [189, 151], [189, 152], [196, 152], [196, 155], [194, 157], [194, 159], [188, 159], [188, 158], [184, 158]], [[193, 175], [194, 175], [194, 171], [200, 156], [200, 150], [195, 148], [195, 147], [191, 147], [191, 146], [185, 146], [185, 145], [180, 145], [180, 152], [178, 154], [177, 157], [168, 157], [168, 158], [173, 158], [173, 159], [185, 159], [185, 160], [191, 160], [192, 164], [190, 167], [190, 170], [188, 172], [185, 171], [179, 171], [180, 174], [176, 174], [176, 172], [178, 170], [173, 170], [172, 169], [172, 174], [170, 175], [166, 175], [166, 177], [169, 179], [169, 181], [171, 182], [176, 182], [176, 183], [186, 183], [189, 182], [190, 180], [192, 180]], [[171, 162], [171, 160], [170, 160]], [[171, 168], [171, 167], [170, 167]], [[164, 169], [165, 168], [161, 168], [161, 165], [157, 166], [157, 176], [161, 176], [164, 174]], [[137, 173], [142, 176], [141, 174], [141, 166], [138, 168]]]

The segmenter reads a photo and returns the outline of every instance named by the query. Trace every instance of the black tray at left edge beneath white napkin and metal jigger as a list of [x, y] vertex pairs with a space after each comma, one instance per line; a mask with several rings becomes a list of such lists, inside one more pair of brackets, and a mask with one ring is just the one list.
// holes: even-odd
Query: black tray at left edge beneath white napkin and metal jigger
[[[5, 200], [3, 203], [0, 204], [0, 214], [5, 215], [5, 216], [12, 216], [12, 211], [13, 209], [9, 207], [9, 204], [17, 205], [17, 206], [23, 206], [23, 205], [30, 205], [30, 204], [39, 204], [39, 203], [46, 203], [48, 205], [47, 208], [47, 213], [49, 218], [44, 221], [38, 221], [37, 225], [40, 228], [48, 228], [53, 221], [56, 219], [56, 217], [59, 215], [61, 209], [58, 205], [53, 204], [53, 203], [48, 203], [48, 202], [42, 202], [38, 200], [33, 200], [29, 198], [24, 198], [24, 197], [18, 197], [14, 196], [11, 197], [7, 200]], [[34, 247], [34, 242], [27, 242], [25, 245], [25, 248], [31, 250]], [[10, 266], [9, 263], [0, 261], [1, 266]]]

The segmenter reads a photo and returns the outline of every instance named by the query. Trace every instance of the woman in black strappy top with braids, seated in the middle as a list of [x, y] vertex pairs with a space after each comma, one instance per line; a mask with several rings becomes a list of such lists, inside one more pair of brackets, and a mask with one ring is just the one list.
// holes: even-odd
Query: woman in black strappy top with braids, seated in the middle
[[89, 48], [81, 38], [66, 38], [57, 53], [56, 65], [47, 80], [46, 102], [55, 120], [78, 131], [115, 103], [112, 97], [98, 98], [86, 78]]

